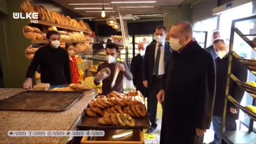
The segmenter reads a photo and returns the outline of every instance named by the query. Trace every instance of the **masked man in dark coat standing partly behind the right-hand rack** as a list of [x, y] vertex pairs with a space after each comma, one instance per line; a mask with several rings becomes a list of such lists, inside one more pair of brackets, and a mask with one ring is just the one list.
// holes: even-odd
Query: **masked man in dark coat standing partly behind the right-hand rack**
[[[217, 57], [215, 58], [217, 85], [212, 120], [214, 140], [211, 143], [221, 143], [221, 127], [227, 88], [229, 53], [224, 39], [215, 39], [213, 42], [213, 47], [217, 53]], [[246, 82], [247, 68], [234, 57], [232, 59], [231, 66], [231, 73], [235, 75], [240, 81]], [[237, 85], [233, 80], [231, 80], [229, 84], [229, 95], [231, 95], [231, 97], [233, 97], [238, 102], [241, 102], [244, 95], [244, 89]], [[238, 111], [238, 108], [233, 105], [233, 103], [228, 101], [225, 131], [236, 131], [236, 119], [239, 117]]]

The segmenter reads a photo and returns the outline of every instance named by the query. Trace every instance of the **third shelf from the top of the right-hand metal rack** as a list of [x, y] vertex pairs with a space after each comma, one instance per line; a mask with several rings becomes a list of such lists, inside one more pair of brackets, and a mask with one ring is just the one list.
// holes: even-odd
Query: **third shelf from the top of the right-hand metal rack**
[[256, 87], [253, 87], [249, 84], [239, 81], [239, 79], [236, 76], [234, 76], [233, 74], [230, 75], [230, 78], [233, 79], [233, 81], [235, 81], [239, 86], [243, 87], [243, 89], [249, 95], [251, 95], [252, 98], [254, 98], [256, 100]]

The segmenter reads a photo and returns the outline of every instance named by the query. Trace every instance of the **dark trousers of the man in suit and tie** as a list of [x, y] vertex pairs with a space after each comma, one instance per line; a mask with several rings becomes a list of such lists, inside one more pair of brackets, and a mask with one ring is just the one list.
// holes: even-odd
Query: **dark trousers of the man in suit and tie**
[[151, 122], [151, 127], [157, 127], [157, 97], [158, 92], [163, 89], [163, 78], [153, 76], [152, 83], [149, 87], [148, 97], [148, 118]]

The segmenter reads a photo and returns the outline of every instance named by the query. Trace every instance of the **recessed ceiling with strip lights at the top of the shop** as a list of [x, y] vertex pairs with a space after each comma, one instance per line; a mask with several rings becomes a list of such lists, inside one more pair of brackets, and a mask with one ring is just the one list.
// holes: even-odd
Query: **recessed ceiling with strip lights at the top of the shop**
[[[84, 18], [93, 18], [94, 20], [102, 19], [101, 18], [102, 0], [86, 0], [86, 1], [85, 0], [53, 0], [53, 1], [59, 3], [64, 7], [67, 7], [72, 11], [77, 12], [78, 14], [82, 15], [82, 17]], [[162, 18], [163, 17], [163, 15], [161, 15], [163, 13], [162, 7], [175, 6], [181, 3], [188, 4], [196, 0], [155, 0], [156, 3], [119, 3], [119, 4], [113, 3], [117, 1], [119, 0], [113, 0], [113, 1], [104, 0], [106, 18], [112, 15], [118, 15], [118, 10], [117, 10], [118, 6], [120, 7], [119, 12], [122, 15], [133, 14], [133, 15], [143, 15], [141, 16], [141, 18], [149, 18], [149, 17]], [[127, 0], [123, 2], [131, 2], [131, 1], [147, 1], [147, 0]], [[78, 5], [69, 5], [69, 4], [78, 4]], [[134, 8], [131, 8], [131, 7], [134, 7]], [[81, 8], [86, 8], [86, 9], [81, 9]], [[98, 12], [95, 12], [95, 11], [98, 11]], [[157, 14], [157, 15], [147, 16], [148, 14]]]

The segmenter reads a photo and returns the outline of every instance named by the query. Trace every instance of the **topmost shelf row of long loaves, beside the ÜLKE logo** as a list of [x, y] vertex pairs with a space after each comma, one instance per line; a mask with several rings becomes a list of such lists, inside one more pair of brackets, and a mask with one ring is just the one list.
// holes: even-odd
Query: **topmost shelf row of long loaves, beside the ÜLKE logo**
[[25, 1], [21, 4], [21, 11], [23, 13], [38, 13], [38, 19], [50, 23], [55, 23], [61, 26], [72, 27], [76, 29], [81, 29], [85, 31], [91, 32], [89, 25], [85, 23], [83, 20], [77, 21], [75, 19], [71, 19], [68, 16], [57, 12], [50, 12], [45, 9], [43, 6], [36, 6], [29, 3], [29, 1]]

